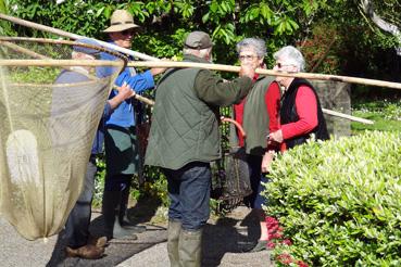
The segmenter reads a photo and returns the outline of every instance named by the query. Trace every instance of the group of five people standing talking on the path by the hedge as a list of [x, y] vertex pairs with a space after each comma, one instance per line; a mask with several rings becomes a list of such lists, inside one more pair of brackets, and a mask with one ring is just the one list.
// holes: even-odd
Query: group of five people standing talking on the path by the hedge
[[[117, 10], [104, 31], [111, 42], [130, 48], [135, 28], [133, 16]], [[203, 31], [190, 33], [184, 42], [184, 61], [210, 63], [213, 42]], [[200, 266], [202, 230], [210, 216], [211, 167], [220, 158], [221, 106], [234, 105], [234, 113], [247, 132], [239, 145], [247, 153], [253, 193], [245, 202], [256, 211], [261, 236], [252, 251], [266, 247], [268, 232], [260, 192], [266, 181], [275, 153], [299, 145], [311, 135], [328, 139], [322, 107], [313, 86], [293, 77], [264, 77], [255, 68], [265, 68], [266, 46], [262, 39], [247, 38], [237, 44], [239, 77], [223, 80], [209, 69], [171, 68], [155, 89], [151, 128], [145, 164], [160, 167], [167, 179], [168, 208], [167, 252], [171, 266]], [[304, 59], [295, 47], [273, 54], [274, 71], [297, 73], [304, 69]], [[112, 59], [106, 59], [112, 60]], [[86, 258], [101, 257], [112, 238], [135, 239], [143, 227], [133, 225], [126, 216], [133, 175], [138, 170], [133, 94], [154, 87], [153, 76], [164, 68], [137, 74], [125, 68], [116, 79], [105, 104], [99, 132], [104, 131], [106, 177], [102, 213], [105, 238], [90, 237], [90, 202], [96, 173], [93, 147], [88, 163], [86, 186], [66, 224], [67, 254]], [[105, 125], [105, 127], [103, 127]], [[97, 135], [99, 137], [101, 135]], [[97, 141], [97, 140], [96, 140]], [[99, 144], [99, 140], [96, 144]], [[95, 144], [95, 143], [93, 143]]]

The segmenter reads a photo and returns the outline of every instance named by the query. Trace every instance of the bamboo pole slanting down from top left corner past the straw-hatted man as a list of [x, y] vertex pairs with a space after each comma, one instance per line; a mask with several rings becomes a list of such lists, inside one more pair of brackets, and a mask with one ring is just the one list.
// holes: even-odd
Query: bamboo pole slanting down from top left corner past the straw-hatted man
[[[17, 17], [14, 17], [14, 16], [5, 15], [3, 13], [0, 13], [0, 18], [12, 22], [12, 23], [15, 23], [15, 24], [20, 24], [20, 25], [23, 25], [23, 26], [26, 26], [26, 27], [30, 27], [30, 28], [43, 30], [43, 31], [47, 31], [47, 33], [51, 33], [51, 34], [54, 34], [54, 35], [58, 35], [58, 36], [74, 39], [74, 40], [82, 39], [82, 38], [93, 39], [93, 38], [88, 38], [88, 37], [85, 37], [85, 36], [76, 35], [76, 34], [72, 34], [72, 33], [68, 33], [68, 31], [65, 31], [65, 30], [62, 30], [62, 29], [58, 29], [58, 28], [46, 26], [46, 25], [41, 25], [41, 24], [38, 24], [38, 23], [28, 22], [28, 21], [17, 18]], [[125, 49], [125, 48], [115, 46], [115, 44], [110, 43], [110, 42], [105, 42], [105, 41], [101, 41], [101, 40], [97, 40], [97, 39], [93, 39], [93, 40], [96, 40], [99, 44], [101, 44], [105, 48], [122, 52], [124, 54], [133, 55], [135, 58], [140, 59], [140, 60], [159, 61], [159, 59], [156, 59], [156, 58], [153, 58], [153, 56], [150, 56], [150, 55], [147, 55], [147, 54], [143, 54], [143, 53], [139, 53], [139, 52], [136, 52], [136, 51], [133, 51], [133, 50], [129, 50], [129, 49]]]

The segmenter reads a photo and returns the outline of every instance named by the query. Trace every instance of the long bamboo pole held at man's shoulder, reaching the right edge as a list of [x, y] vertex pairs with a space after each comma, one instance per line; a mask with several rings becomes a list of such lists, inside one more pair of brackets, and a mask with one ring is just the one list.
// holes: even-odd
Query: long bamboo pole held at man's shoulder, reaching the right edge
[[[206, 64], [206, 63], [192, 63], [192, 62], [174, 62], [174, 61], [130, 61], [128, 66], [136, 67], [199, 67], [222, 72], [238, 73], [239, 66], [224, 65], [224, 64]], [[339, 75], [327, 75], [327, 74], [313, 74], [313, 73], [287, 73], [287, 72], [276, 72], [272, 69], [256, 68], [256, 73], [261, 75], [268, 76], [284, 76], [284, 77], [298, 77], [305, 79], [318, 79], [318, 80], [333, 80], [342, 81], [350, 84], [369, 85], [377, 87], [387, 87], [393, 89], [401, 89], [400, 82], [391, 82], [377, 79], [365, 79], [356, 78], [350, 76], [339, 76]]]

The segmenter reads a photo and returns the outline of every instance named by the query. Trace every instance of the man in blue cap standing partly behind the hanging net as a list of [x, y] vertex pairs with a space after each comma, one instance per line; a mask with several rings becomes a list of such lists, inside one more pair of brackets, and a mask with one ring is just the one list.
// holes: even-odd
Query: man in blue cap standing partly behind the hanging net
[[[99, 46], [96, 41], [90, 39], [79, 39], [78, 43]], [[99, 50], [93, 48], [88, 48], [84, 46], [74, 46], [72, 52], [73, 60], [95, 60], [99, 55]], [[82, 86], [74, 88], [71, 87], [72, 84], [78, 84], [89, 80], [90, 67], [72, 67], [71, 69], [63, 69], [58, 76], [55, 84], [65, 86], [54, 89], [53, 92], [53, 104], [58, 106], [58, 101], [65, 101], [68, 99], [67, 96], [76, 94], [76, 90], [82, 90]], [[75, 90], [73, 90], [75, 89]], [[118, 88], [117, 94], [110, 99], [103, 111], [103, 118], [110, 116], [112, 111], [118, 106], [124, 100], [133, 97], [133, 91], [129, 86], [123, 86]], [[57, 115], [57, 114], [54, 114]], [[62, 122], [60, 122], [62, 123]], [[67, 221], [65, 224], [65, 231], [63, 238], [67, 242], [66, 255], [70, 257], [82, 257], [87, 259], [100, 258], [104, 253], [104, 246], [106, 244], [105, 237], [95, 238], [89, 233], [89, 224], [91, 217], [91, 202], [95, 191], [95, 176], [97, 173], [96, 157], [98, 154], [102, 153], [103, 145], [103, 123], [99, 124], [98, 131], [95, 136], [95, 140], [91, 148], [91, 154], [87, 166], [87, 171], [85, 175], [85, 180], [83, 185], [83, 191], [70, 213]], [[70, 122], [64, 125], [64, 127], [71, 127]], [[58, 138], [59, 140], [59, 138]]]

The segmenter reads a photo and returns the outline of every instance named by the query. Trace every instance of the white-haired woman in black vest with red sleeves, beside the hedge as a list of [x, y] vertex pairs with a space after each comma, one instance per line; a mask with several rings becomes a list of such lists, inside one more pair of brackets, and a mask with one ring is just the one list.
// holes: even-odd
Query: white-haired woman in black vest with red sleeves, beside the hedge
[[[298, 73], [304, 69], [302, 53], [288, 46], [273, 54], [274, 71]], [[270, 140], [284, 143], [286, 149], [302, 144], [312, 134], [316, 139], [329, 138], [321, 103], [313, 86], [305, 79], [277, 76], [285, 88], [280, 107], [280, 128], [270, 134]]]

